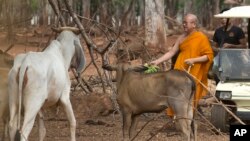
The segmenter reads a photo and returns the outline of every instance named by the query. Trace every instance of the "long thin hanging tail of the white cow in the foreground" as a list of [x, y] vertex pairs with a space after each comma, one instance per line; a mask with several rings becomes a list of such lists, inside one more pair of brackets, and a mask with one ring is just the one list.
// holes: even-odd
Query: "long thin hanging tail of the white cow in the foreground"
[[25, 87], [26, 81], [25, 75], [28, 70], [28, 66], [21, 66], [19, 69], [19, 78], [18, 78], [18, 117], [17, 117], [17, 132], [15, 136], [15, 141], [20, 141], [21, 139], [21, 111], [22, 111], [22, 95], [23, 95], [23, 88]]

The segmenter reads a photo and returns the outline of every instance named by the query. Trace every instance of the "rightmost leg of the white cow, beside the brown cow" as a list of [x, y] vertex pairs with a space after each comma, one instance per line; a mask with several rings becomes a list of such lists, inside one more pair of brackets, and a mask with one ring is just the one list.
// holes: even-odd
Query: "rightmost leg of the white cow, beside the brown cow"
[[69, 99], [69, 93], [70, 93], [70, 87], [64, 91], [60, 100], [69, 120], [71, 141], [75, 141], [76, 119]]

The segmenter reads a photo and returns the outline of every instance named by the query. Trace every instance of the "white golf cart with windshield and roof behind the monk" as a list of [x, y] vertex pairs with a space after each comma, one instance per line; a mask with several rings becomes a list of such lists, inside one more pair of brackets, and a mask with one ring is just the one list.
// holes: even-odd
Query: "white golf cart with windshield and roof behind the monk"
[[[245, 18], [250, 21], [250, 6], [231, 8], [216, 18]], [[250, 45], [250, 24], [248, 24]], [[241, 120], [250, 120], [250, 49], [220, 49], [216, 97]], [[213, 105], [211, 122], [221, 131], [229, 131], [235, 119], [221, 105]]]

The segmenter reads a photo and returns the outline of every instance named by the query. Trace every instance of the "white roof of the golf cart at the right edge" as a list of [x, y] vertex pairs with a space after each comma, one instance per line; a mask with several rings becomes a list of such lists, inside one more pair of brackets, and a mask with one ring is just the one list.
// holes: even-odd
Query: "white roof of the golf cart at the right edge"
[[250, 18], [250, 6], [233, 7], [223, 13], [214, 15], [216, 18]]

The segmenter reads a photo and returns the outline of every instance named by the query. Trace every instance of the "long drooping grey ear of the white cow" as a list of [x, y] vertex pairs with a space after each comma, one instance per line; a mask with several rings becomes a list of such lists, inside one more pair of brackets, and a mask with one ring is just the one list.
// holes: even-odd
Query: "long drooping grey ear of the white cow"
[[78, 73], [81, 73], [81, 71], [85, 67], [86, 59], [79, 39], [74, 41], [74, 45], [75, 45], [75, 61], [73, 61], [73, 63], [75, 64], [73, 64], [73, 66], [75, 66], [76, 71]]

